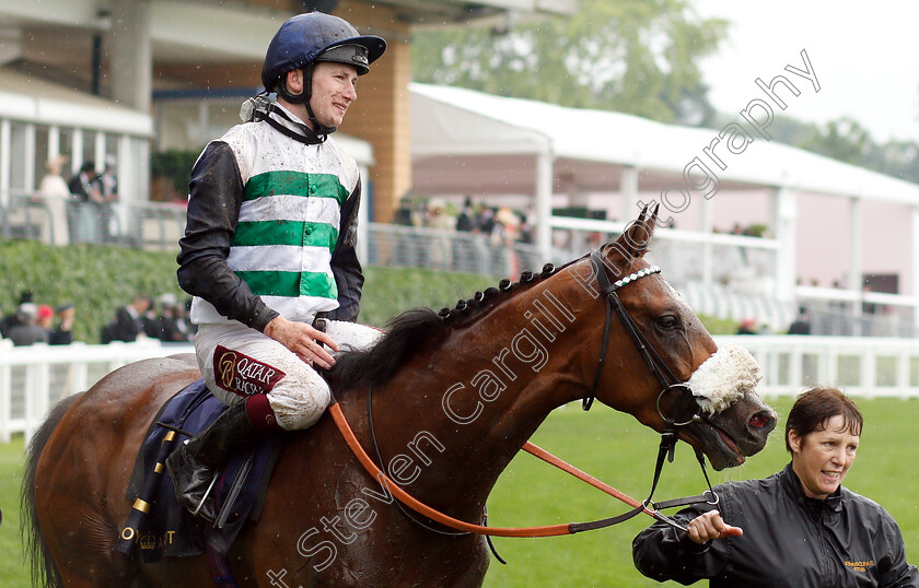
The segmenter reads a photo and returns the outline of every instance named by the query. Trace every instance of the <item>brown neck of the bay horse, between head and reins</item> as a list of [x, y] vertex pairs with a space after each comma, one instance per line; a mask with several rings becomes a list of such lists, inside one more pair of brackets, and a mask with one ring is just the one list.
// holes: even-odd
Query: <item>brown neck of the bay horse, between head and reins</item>
[[454, 516], [480, 514], [501, 471], [548, 413], [582, 393], [573, 356], [583, 341], [573, 320], [546, 290], [400, 371], [374, 399], [387, 473]]

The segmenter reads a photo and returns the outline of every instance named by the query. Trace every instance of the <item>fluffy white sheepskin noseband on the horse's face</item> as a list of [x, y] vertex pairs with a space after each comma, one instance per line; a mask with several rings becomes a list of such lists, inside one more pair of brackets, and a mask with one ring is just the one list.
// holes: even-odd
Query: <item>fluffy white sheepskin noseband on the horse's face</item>
[[687, 381], [702, 412], [714, 414], [746, 392], [756, 393], [763, 372], [753, 355], [740, 345], [729, 344], [706, 360]]

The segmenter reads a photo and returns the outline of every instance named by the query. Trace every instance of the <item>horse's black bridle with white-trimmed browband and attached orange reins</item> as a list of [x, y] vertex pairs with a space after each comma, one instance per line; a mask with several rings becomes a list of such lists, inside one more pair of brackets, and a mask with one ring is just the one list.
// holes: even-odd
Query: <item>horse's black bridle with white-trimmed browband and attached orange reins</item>
[[[635, 281], [638, 281], [642, 278], [648, 275], [653, 275], [655, 273], [661, 272], [661, 268], [658, 266], [649, 266], [641, 270], [638, 270], [629, 275], [626, 275], [616, 282], [610, 283], [609, 278], [606, 274], [606, 267], [603, 263], [603, 259], [601, 258], [597, 250], [593, 250], [590, 254], [590, 261], [593, 267], [594, 273], [596, 274], [597, 281], [601, 287], [601, 294], [603, 294], [606, 301], [606, 319], [603, 327], [603, 342], [601, 346], [601, 354], [597, 361], [597, 371], [596, 375], [594, 376], [593, 386], [591, 387], [590, 392], [588, 392], [582, 401], [583, 409], [590, 410], [591, 405], [593, 404], [594, 398], [596, 396], [597, 388], [600, 386], [601, 376], [603, 374], [603, 367], [606, 362], [606, 352], [609, 344], [609, 331], [612, 327], [612, 317], [613, 311], [619, 317], [620, 322], [623, 324], [626, 332], [629, 333], [630, 339], [638, 349], [639, 353], [641, 354], [645, 365], [651, 371], [651, 373], [658, 378], [662, 386], [661, 392], [658, 395], [656, 399], [656, 407], [658, 412], [664, 421], [664, 428], [661, 433], [661, 445], [658, 451], [658, 460], [654, 468], [654, 480], [651, 485], [651, 492], [648, 494], [648, 498], [644, 501], [638, 502], [635, 498], [631, 498], [621, 492], [604, 484], [603, 482], [596, 480], [595, 478], [590, 477], [589, 474], [581, 472], [577, 468], [569, 466], [565, 461], [556, 458], [548, 451], [545, 451], [531, 443], [526, 443], [523, 449], [544, 461], [556, 466], [566, 472], [579, 478], [580, 480], [603, 490], [610, 496], [614, 496], [626, 504], [632, 506], [632, 510], [618, 515], [616, 517], [610, 517], [602, 520], [595, 520], [590, 522], [580, 522], [580, 524], [566, 524], [566, 525], [551, 525], [547, 527], [527, 527], [527, 528], [493, 528], [487, 527], [485, 525], [474, 525], [470, 522], [465, 522], [462, 520], [454, 519], [443, 513], [434, 510], [433, 508], [424, 505], [423, 503], [419, 502], [410, 494], [405, 492], [402, 487], [395, 484], [381, 469], [376, 466], [376, 462], [368, 456], [367, 451], [361, 446], [360, 442], [358, 442], [357, 436], [354, 435], [353, 431], [351, 431], [350, 425], [345, 418], [340, 405], [337, 401], [333, 400], [331, 405], [329, 407], [329, 412], [331, 413], [333, 419], [335, 420], [338, 430], [341, 432], [345, 440], [351, 447], [354, 456], [364, 467], [364, 469], [374, 478], [376, 478], [382, 485], [388, 490], [392, 495], [397, 499], [397, 505], [403, 513], [409, 518], [409, 520], [420, 525], [424, 529], [430, 531], [439, 532], [441, 534], [457, 534], [451, 532], [440, 531], [423, 522], [419, 521], [415, 517], [410, 516], [405, 509], [402, 508], [402, 504], [405, 504], [416, 513], [428, 517], [429, 519], [437, 521], [441, 525], [444, 525], [451, 529], [461, 531], [461, 534], [465, 533], [478, 533], [485, 536], [498, 536], [498, 537], [554, 537], [559, 534], [572, 534], [580, 531], [588, 531], [588, 530], [595, 530], [601, 529], [604, 527], [608, 527], [610, 525], [616, 525], [618, 522], [623, 522], [632, 518], [633, 516], [638, 515], [639, 513], [645, 513], [651, 517], [655, 518], [659, 521], [666, 522], [667, 525], [686, 531], [686, 527], [678, 524], [674, 519], [661, 514], [659, 510], [664, 508], [673, 508], [677, 506], [686, 506], [689, 504], [697, 504], [697, 503], [709, 503], [711, 505], [718, 505], [719, 497], [711, 489], [711, 482], [709, 481], [708, 473], [706, 472], [705, 466], [705, 457], [702, 456], [701, 451], [698, 449], [696, 450], [696, 457], [699, 460], [699, 463], [702, 469], [702, 474], [705, 475], [706, 483], [708, 484], [708, 490], [697, 496], [689, 496], [685, 498], [675, 498], [672, 501], [663, 501], [660, 503], [652, 502], [652, 496], [654, 491], [658, 486], [658, 481], [660, 480], [661, 471], [663, 469], [664, 457], [666, 456], [667, 461], [673, 461], [674, 459], [674, 451], [676, 448], [676, 442], [678, 439], [678, 430], [682, 426], [686, 426], [693, 422], [701, 421], [703, 418], [701, 416], [700, 408], [696, 400], [693, 398], [693, 392], [689, 389], [689, 386], [686, 381], [680, 380], [677, 378], [673, 372], [667, 367], [666, 363], [661, 358], [660, 354], [654, 350], [653, 346], [648, 342], [648, 339], [641, 333], [641, 330], [638, 328], [638, 325], [635, 322], [635, 319], [631, 318], [629, 313], [626, 310], [625, 306], [623, 305], [621, 299], [619, 299], [618, 290], [627, 284], [630, 284]], [[551, 271], [551, 270], [549, 270]], [[676, 390], [682, 392], [679, 400], [676, 403], [676, 410], [674, 414], [671, 416], [664, 415], [662, 408], [661, 408], [661, 399], [663, 396], [670, 391]], [[372, 413], [372, 387], [368, 389], [368, 397], [367, 397], [367, 416], [368, 416], [368, 425], [371, 442], [373, 444], [374, 450], [376, 452], [376, 459], [380, 463], [384, 463], [383, 458], [380, 454], [380, 449], [376, 443], [376, 435], [373, 430], [373, 413]], [[492, 550], [493, 551], [493, 550]], [[497, 553], [496, 553], [497, 555]], [[500, 557], [499, 557], [500, 560]]]

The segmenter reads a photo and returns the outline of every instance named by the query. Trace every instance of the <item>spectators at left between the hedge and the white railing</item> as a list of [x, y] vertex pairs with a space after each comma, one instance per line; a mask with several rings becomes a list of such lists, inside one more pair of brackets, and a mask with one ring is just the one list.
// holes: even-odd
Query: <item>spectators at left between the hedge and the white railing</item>
[[[159, 339], [164, 343], [188, 343], [195, 330], [186, 318], [190, 298], [179, 303], [174, 294], [160, 295], [155, 304], [144, 295], [135, 299], [115, 314], [115, 319], [102, 328], [102, 343], [112, 341], [131, 342], [139, 339]], [[20, 295], [16, 308], [0, 319], [0, 340], [13, 345], [67, 345], [73, 342], [73, 320], [77, 307], [65, 303], [53, 308], [33, 301], [32, 292]], [[8, 343], [9, 344], [9, 343]]]

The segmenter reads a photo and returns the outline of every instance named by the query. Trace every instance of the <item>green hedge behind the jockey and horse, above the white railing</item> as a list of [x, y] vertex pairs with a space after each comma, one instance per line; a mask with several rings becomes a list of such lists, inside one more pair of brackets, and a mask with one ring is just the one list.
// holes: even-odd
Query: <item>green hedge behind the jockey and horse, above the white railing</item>
[[[31, 290], [37, 304], [77, 306], [73, 337], [97, 343], [102, 326], [138, 293], [156, 297], [186, 295], [175, 277], [174, 252], [121, 247], [74, 245], [55, 247], [36, 242], [0, 240], [0, 311], [11, 313], [20, 292]], [[481, 275], [421, 269], [365, 268], [361, 322], [382, 327], [398, 313], [417, 306], [439, 309], [496, 285]], [[712, 333], [733, 333], [737, 324], [702, 318]]]

